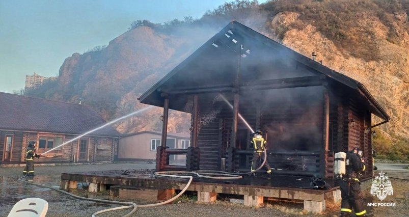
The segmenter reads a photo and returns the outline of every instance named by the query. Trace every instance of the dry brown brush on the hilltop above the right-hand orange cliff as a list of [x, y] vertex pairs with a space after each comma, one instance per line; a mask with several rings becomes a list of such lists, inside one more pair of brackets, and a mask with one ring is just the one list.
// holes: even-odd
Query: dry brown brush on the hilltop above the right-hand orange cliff
[[[329, 38], [341, 49], [357, 58], [375, 61], [381, 58], [381, 53], [370, 21], [381, 21], [389, 28], [385, 40], [399, 44], [394, 25], [409, 30], [408, 22], [397, 23], [395, 12], [409, 11], [407, 0], [278, 0], [262, 5], [262, 9], [274, 16], [279, 12], [290, 11], [299, 14], [299, 19], [314, 25], [316, 29]], [[302, 26], [291, 26], [302, 28]], [[284, 32], [283, 32], [284, 31]], [[285, 34], [283, 28], [281, 35]]]

